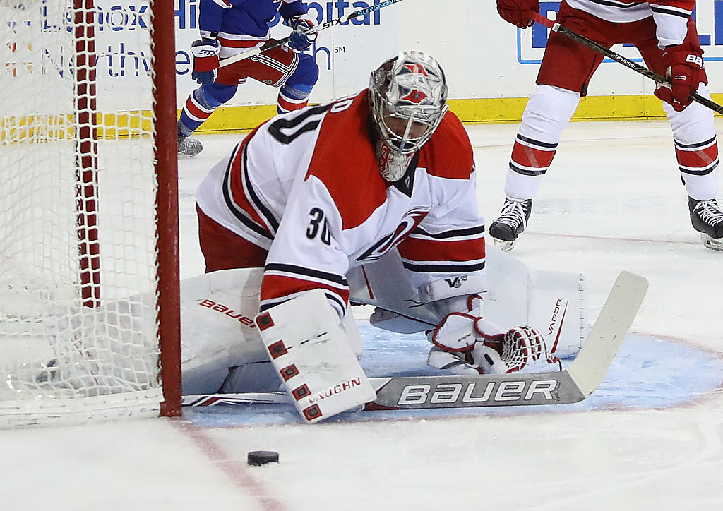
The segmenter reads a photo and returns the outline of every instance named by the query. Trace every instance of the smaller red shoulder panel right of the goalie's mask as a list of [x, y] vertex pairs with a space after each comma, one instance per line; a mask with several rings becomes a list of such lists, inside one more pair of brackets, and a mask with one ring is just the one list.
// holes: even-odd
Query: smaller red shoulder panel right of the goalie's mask
[[419, 166], [427, 173], [448, 179], [469, 179], [474, 153], [469, 135], [455, 113], [448, 111], [429, 142], [422, 146]]

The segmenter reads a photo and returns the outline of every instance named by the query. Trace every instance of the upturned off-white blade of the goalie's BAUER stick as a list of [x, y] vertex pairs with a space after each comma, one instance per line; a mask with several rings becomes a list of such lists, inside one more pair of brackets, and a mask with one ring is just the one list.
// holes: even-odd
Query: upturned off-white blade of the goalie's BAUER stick
[[617, 276], [583, 349], [568, 367], [585, 397], [602, 383], [647, 291], [646, 278], [625, 271]]

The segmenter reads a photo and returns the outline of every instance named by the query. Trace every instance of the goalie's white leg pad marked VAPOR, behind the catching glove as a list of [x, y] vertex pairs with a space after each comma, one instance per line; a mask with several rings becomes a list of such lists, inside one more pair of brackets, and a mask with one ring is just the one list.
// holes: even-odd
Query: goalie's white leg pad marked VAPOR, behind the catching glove
[[[398, 317], [377, 314], [372, 325], [387, 330], [411, 333], [436, 327], [441, 318], [424, 304], [406, 275], [399, 254], [390, 252], [350, 272], [350, 299], [401, 313]], [[482, 296], [484, 317], [505, 329], [535, 327], [560, 358], [580, 351], [589, 331], [585, 279], [579, 273], [530, 269], [487, 246], [487, 291]]]

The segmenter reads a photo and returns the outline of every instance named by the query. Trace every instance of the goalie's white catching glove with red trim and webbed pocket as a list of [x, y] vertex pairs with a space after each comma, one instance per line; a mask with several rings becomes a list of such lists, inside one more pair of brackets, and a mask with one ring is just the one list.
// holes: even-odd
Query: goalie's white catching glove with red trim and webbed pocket
[[453, 374], [507, 374], [562, 370], [542, 334], [528, 326], [503, 330], [479, 315], [482, 299], [471, 296], [468, 312], [450, 312], [429, 332], [434, 347], [427, 364]]

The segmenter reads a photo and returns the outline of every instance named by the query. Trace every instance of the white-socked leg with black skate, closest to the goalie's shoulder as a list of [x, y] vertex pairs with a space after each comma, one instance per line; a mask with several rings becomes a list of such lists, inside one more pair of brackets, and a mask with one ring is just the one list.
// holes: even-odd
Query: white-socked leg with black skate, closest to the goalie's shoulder
[[580, 94], [551, 85], [538, 85], [527, 103], [505, 178], [505, 204], [489, 226], [495, 245], [511, 250], [532, 212], [542, 176], [555, 157], [562, 129], [570, 121]]

